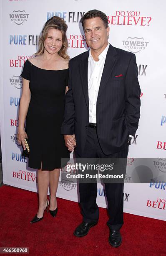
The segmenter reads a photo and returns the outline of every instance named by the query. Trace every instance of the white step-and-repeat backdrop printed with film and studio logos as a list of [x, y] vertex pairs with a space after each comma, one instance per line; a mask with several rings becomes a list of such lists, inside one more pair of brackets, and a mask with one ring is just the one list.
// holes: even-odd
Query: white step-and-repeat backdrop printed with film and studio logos
[[[109, 42], [136, 54], [141, 87], [141, 118], [129, 147], [124, 211], [166, 220], [165, 1], [1, 0], [0, 5], [3, 183], [38, 190], [36, 170], [28, 167], [28, 159], [21, 154], [17, 128], [23, 87], [20, 74], [24, 62], [36, 52], [44, 23], [54, 15], [64, 18], [68, 25], [68, 54], [72, 58], [88, 50], [80, 18], [88, 10], [98, 9], [108, 16]], [[47, 117], [38, 125], [45, 122]], [[64, 172], [65, 168], [61, 173]], [[62, 175], [57, 196], [78, 201], [77, 182]], [[107, 206], [102, 184], [98, 184], [97, 203]]]

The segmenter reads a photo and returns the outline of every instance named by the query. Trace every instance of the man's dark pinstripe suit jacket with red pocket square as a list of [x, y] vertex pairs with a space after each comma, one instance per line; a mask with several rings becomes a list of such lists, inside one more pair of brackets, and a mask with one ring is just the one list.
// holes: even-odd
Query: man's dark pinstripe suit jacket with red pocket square
[[[75, 134], [80, 155], [89, 122], [88, 56], [86, 51], [69, 62], [69, 90], [62, 123], [62, 134]], [[129, 134], [134, 136], [138, 128], [141, 91], [137, 77], [136, 56], [110, 45], [96, 104], [98, 140], [106, 155], [126, 147]]]

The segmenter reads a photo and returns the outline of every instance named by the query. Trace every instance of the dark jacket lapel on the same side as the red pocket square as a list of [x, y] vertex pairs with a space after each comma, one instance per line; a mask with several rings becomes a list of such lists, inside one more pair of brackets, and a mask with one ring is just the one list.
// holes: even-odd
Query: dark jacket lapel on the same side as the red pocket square
[[108, 48], [108, 52], [106, 55], [106, 61], [104, 64], [104, 69], [103, 69], [103, 74], [101, 77], [101, 82], [100, 82], [100, 87], [99, 87], [99, 91], [98, 91], [98, 97], [100, 96], [101, 92], [104, 90], [104, 87], [106, 86], [106, 83], [109, 79], [109, 77], [111, 76], [111, 72], [113, 70], [113, 67], [116, 64], [118, 57], [117, 57], [117, 53], [116, 53], [116, 49], [111, 46], [109, 46]]

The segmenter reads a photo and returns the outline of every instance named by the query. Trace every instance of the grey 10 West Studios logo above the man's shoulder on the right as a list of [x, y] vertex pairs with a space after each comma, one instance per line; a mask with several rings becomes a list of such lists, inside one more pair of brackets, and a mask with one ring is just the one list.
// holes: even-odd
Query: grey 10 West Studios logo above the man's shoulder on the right
[[123, 40], [122, 42], [123, 42], [124, 49], [131, 51], [134, 54], [142, 50], [145, 50], [149, 43], [145, 41], [143, 37], [138, 38], [138, 37], [130, 37], [130, 36], [126, 40]]

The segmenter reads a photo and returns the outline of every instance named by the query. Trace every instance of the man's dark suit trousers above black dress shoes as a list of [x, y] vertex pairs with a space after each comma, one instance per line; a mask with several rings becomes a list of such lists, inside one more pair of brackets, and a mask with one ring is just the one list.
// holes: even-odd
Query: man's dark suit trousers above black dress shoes
[[[126, 174], [128, 146], [122, 151], [105, 155], [98, 141], [97, 130], [88, 128], [88, 136], [83, 154], [75, 152], [76, 158], [124, 158], [123, 168]], [[105, 182], [104, 182], [105, 183]], [[105, 183], [105, 192], [108, 201], [109, 220], [107, 225], [110, 229], [118, 230], [123, 225], [123, 183]], [[83, 221], [87, 223], [97, 222], [99, 218], [98, 205], [96, 204], [97, 183], [79, 183], [80, 206]]]

